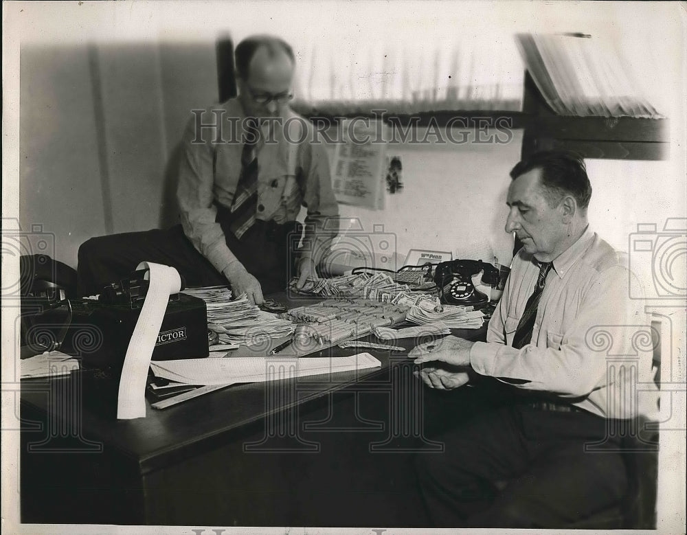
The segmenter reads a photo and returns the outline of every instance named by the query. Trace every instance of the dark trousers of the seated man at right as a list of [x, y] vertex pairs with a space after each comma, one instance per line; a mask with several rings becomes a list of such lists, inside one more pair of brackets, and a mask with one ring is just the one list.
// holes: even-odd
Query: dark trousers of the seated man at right
[[[416, 455], [431, 522], [561, 528], [606, 510], [624, 496], [627, 470], [605, 437], [607, 420], [590, 413], [511, 405], [477, 416], [436, 438], [444, 452]], [[605, 451], [585, 451], [594, 442]]]

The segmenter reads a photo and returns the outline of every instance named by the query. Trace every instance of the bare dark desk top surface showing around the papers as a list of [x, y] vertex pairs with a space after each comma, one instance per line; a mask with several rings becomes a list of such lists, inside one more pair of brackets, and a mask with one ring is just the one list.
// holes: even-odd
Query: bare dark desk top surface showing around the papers
[[[282, 295], [274, 297], [287, 306], [295, 306], [294, 302], [283, 298]], [[310, 300], [309, 303], [316, 301], [317, 299]], [[308, 304], [308, 301], [299, 299], [297, 304]], [[455, 330], [454, 334], [466, 339], [484, 339], [486, 324], [479, 330]], [[378, 341], [376, 337], [363, 339]], [[413, 340], [405, 339], [394, 343], [409, 350], [412, 348]], [[101, 442], [104, 447], [131, 458], [142, 473], [147, 473], [174, 460], [188, 458], [199, 451], [207, 451], [232, 433], [240, 435], [248, 429], [255, 429], [251, 424], [261, 421], [271, 413], [324, 398], [330, 392], [359, 383], [365, 383], [370, 387], [389, 383], [390, 369], [402, 362], [410, 362], [407, 352], [390, 355], [390, 352], [379, 350], [341, 349], [337, 346], [326, 348], [311, 356], [348, 356], [362, 351], [370, 352], [378, 358], [381, 368], [280, 380], [278, 383], [282, 383], [280, 387], [283, 386], [283, 393], [291, 393], [287, 397], [291, 401], [273, 409], [267, 407], [267, 396], [273, 396], [268, 387], [273, 389], [277, 382], [231, 385], [161, 410], [153, 409], [146, 400], [146, 418], [135, 420], [106, 418], [102, 412], [94, 410], [98, 399], [97, 388], [88, 389], [87, 385], [83, 385], [83, 396], [74, 396], [74, 392], [80, 390], [76, 378], [22, 380], [21, 400], [47, 413], [49, 418], [80, 418], [82, 437]], [[281, 392], [280, 389], [280, 395]], [[56, 395], [74, 396], [77, 400], [82, 398], [82, 410], [65, 411], [63, 402], [50, 402]], [[60, 409], [63, 409], [61, 413]]]

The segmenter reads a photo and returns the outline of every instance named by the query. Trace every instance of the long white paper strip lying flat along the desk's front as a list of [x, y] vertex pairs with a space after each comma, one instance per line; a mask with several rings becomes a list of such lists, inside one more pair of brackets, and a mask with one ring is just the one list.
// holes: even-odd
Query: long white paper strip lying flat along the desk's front
[[379, 366], [381, 362], [369, 353], [313, 358], [187, 358], [180, 361], [150, 363], [155, 376], [191, 385], [260, 383]]

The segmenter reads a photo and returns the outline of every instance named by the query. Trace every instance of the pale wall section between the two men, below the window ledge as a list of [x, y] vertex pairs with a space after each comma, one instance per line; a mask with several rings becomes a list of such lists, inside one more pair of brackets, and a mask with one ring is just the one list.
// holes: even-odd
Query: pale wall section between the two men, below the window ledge
[[[467, 141], [461, 144], [438, 143], [432, 135], [429, 144], [390, 144], [387, 155], [400, 156], [403, 164], [403, 190], [387, 193], [383, 210], [340, 205], [341, 216], [358, 218], [365, 231], [382, 225], [393, 233], [398, 262], [409, 249], [433, 249], [487, 262], [496, 256], [508, 264], [513, 238], [504, 230], [506, 190], [522, 132], [482, 131], [480, 139], [488, 143], [475, 142], [476, 135], [454, 130], [453, 139]], [[416, 139], [425, 139], [424, 130]]]

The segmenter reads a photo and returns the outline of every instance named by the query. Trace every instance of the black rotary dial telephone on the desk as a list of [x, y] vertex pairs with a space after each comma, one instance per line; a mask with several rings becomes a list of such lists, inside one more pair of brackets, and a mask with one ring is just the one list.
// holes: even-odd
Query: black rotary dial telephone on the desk
[[441, 262], [434, 270], [434, 282], [439, 289], [441, 302], [448, 305], [482, 308], [489, 302], [488, 295], [475, 288], [472, 276], [482, 273], [483, 284], [497, 284], [499, 270], [482, 260], [451, 260]]

